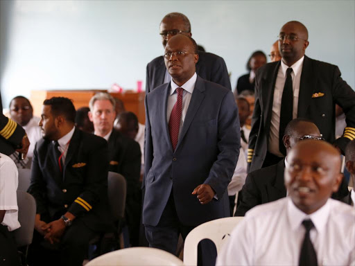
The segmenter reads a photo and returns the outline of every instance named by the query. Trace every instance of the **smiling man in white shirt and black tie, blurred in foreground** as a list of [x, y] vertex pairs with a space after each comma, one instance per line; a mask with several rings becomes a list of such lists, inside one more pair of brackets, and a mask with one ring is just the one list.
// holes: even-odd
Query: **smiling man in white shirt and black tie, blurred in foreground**
[[249, 211], [216, 265], [354, 265], [354, 209], [329, 199], [343, 178], [340, 153], [306, 140], [287, 161], [288, 197]]

